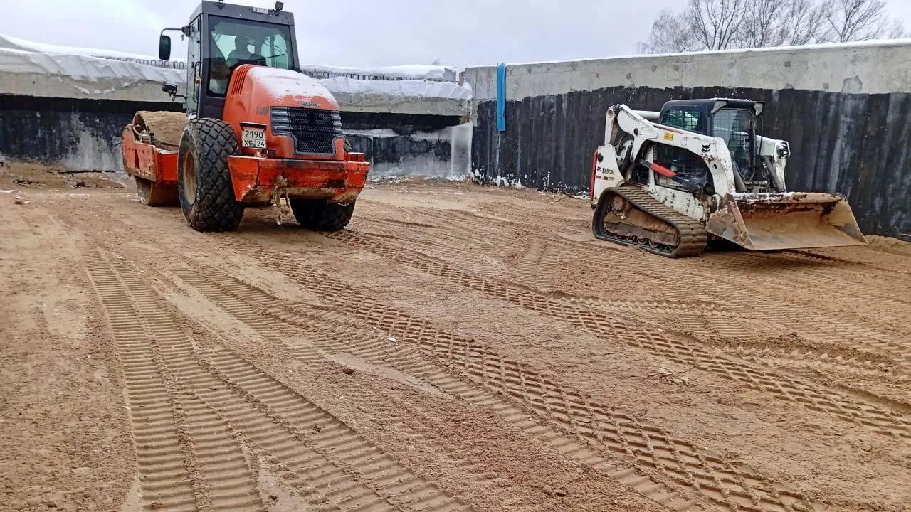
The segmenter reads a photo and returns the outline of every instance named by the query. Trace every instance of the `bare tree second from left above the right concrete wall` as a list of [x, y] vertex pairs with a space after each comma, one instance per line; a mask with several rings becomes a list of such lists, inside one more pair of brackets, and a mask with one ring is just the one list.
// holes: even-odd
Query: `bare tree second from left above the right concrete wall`
[[689, 0], [685, 12], [702, 47], [724, 50], [736, 47], [746, 0]]

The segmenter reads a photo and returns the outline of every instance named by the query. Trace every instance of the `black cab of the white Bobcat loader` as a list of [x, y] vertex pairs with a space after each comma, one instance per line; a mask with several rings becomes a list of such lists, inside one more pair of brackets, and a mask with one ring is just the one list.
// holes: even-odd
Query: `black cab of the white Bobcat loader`
[[[742, 178], [750, 181], [760, 167], [756, 137], [761, 135], [763, 106], [763, 102], [749, 99], [679, 99], [664, 104], [659, 122], [722, 138]], [[662, 147], [659, 159], [676, 162], [684, 176], [696, 181], [708, 173], [701, 159], [682, 148]]]

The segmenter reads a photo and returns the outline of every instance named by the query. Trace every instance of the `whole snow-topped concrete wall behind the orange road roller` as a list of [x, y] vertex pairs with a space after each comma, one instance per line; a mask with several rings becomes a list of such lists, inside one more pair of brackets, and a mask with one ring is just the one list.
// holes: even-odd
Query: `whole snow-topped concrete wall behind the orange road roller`
[[[161, 84], [175, 83], [183, 94], [186, 70], [3, 41], [0, 36], [0, 160], [119, 170], [120, 134], [137, 110], [182, 108]], [[371, 178], [468, 174], [470, 128], [455, 127], [466, 123], [471, 93], [455, 83], [455, 69], [317, 70], [333, 69], [339, 72], [322, 85], [339, 102], [353, 146], [374, 163]], [[362, 76], [370, 79], [353, 78]]]

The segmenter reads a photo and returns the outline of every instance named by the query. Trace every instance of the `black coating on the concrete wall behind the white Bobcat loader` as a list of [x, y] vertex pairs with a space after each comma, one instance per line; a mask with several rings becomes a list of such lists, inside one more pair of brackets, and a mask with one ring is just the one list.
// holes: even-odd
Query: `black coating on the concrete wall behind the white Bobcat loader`
[[588, 191], [591, 156], [603, 144], [611, 105], [660, 110], [670, 99], [746, 97], [766, 102], [764, 134], [791, 144], [790, 190], [844, 193], [865, 233], [911, 236], [911, 94], [805, 90], [611, 87], [507, 102], [496, 131], [496, 101], [478, 106], [472, 169], [478, 179]]

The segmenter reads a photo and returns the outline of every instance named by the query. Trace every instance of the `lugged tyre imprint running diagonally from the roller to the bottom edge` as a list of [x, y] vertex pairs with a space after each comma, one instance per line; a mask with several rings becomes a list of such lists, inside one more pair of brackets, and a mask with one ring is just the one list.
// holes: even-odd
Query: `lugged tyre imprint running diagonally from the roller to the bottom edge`
[[[767, 477], [733, 466], [722, 456], [682, 441], [657, 425], [599, 404], [524, 364], [502, 358], [481, 343], [439, 331], [430, 323], [375, 302], [363, 292], [322, 274], [305, 259], [261, 251], [260, 247], [247, 247], [235, 240], [224, 240], [222, 244], [270, 265], [364, 323], [473, 374], [481, 383], [527, 404], [536, 415], [546, 417], [577, 439], [658, 471], [716, 507], [750, 512], [812, 509], [793, 489], [771, 484]], [[287, 312], [286, 319], [301, 314]]]

